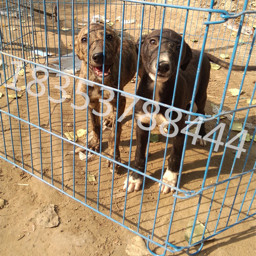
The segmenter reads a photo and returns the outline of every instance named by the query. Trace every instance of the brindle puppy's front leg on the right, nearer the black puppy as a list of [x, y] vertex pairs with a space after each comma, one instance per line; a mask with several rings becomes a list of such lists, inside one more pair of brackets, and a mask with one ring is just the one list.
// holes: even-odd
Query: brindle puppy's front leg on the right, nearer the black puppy
[[[114, 158], [114, 150], [116, 148], [116, 156], [115, 160], [118, 162], [121, 162], [121, 157], [120, 157], [120, 151], [119, 151], [119, 144], [121, 140], [121, 132], [122, 132], [122, 121], [116, 123], [116, 99], [115, 97], [111, 101], [111, 105], [113, 108], [113, 115], [112, 115], [112, 120], [113, 120], [113, 125], [112, 125], [112, 130], [109, 134], [109, 139], [108, 139], [108, 155], [111, 158]], [[119, 106], [118, 106], [118, 115], [117, 119], [124, 113], [125, 111], [125, 104], [126, 104], [126, 98], [123, 96], [119, 96]], [[116, 128], [117, 125], [117, 128]], [[116, 140], [116, 145], [115, 145], [115, 140]], [[110, 160], [107, 160], [107, 167], [110, 168], [110, 172], [113, 172], [113, 162]], [[115, 164], [114, 172], [117, 171], [118, 165]]]

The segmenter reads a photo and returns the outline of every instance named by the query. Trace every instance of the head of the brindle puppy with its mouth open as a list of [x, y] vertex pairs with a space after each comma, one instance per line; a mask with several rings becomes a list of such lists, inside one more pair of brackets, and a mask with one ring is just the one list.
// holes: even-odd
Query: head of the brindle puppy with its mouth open
[[[120, 45], [120, 39], [116, 32], [114, 32], [113, 29], [106, 27], [106, 34], [104, 34], [104, 26], [102, 24], [95, 23], [90, 24], [89, 33], [87, 28], [83, 28], [75, 38], [75, 52], [78, 58], [87, 64], [87, 53], [89, 54], [89, 68], [98, 79], [102, 79], [103, 76], [104, 38], [104, 77], [105, 79], [108, 79], [111, 76], [111, 68]], [[89, 50], [87, 49], [88, 40]]]

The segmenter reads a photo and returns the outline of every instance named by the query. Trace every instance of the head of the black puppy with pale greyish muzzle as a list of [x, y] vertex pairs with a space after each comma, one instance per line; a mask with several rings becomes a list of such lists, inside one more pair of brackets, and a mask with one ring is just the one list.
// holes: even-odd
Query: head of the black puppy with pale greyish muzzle
[[[163, 29], [159, 64], [157, 70], [157, 56], [160, 41], [160, 30], [145, 35], [141, 40], [141, 56], [146, 73], [154, 81], [157, 74], [158, 82], [165, 82], [177, 72], [182, 37], [171, 29]], [[139, 46], [137, 41], [137, 47]], [[184, 42], [180, 68], [186, 70], [192, 58], [192, 51]]]

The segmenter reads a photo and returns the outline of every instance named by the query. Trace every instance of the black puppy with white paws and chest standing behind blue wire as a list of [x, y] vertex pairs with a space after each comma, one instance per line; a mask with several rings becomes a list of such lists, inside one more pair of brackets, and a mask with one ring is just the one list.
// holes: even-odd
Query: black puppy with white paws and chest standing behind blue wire
[[[172, 104], [172, 97], [175, 87], [175, 79], [177, 72], [178, 59], [180, 55], [182, 37], [171, 29], [163, 29], [160, 58], [158, 70], [157, 67], [157, 55], [158, 47], [160, 41], [160, 30], [156, 30], [149, 35], [142, 38], [141, 46], [141, 58], [144, 64], [144, 73], [140, 81], [137, 95], [143, 96], [148, 99], [153, 98], [154, 82], [157, 74], [157, 82], [155, 89], [154, 99], [157, 102], [163, 102], [165, 104]], [[180, 109], [189, 109], [189, 104], [192, 99], [192, 93], [195, 84], [196, 73], [198, 69], [198, 61], [200, 57], [200, 51], [191, 49], [188, 44], [184, 42], [182, 58], [179, 70], [179, 76], [177, 80], [177, 90], [175, 93], [174, 107]], [[210, 62], [209, 60], [220, 64], [223, 67], [229, 67], [229, 64], [225, 61], [221, 61], [213, 55], [204, 53], [201, 72], [199, 76], [197, 92], [195, 96], [195, 104], [197, 105], [197, 113], [205, 114], [204, 108], [207, 100], [207, 86], [210, 77]], [[234, 70], [244, 70], [244, 67], [233, 66]], [[255, 70], [256, 67], [248, 67], [248, 70]], [[145, 101], [139, 100], [135, 106], [136, 119], [144, 114], [143, 104]], [[157, 125], [166, 121], [165, 112], [167, 108], [160, 106], [160, 111], [154, 114], [153, 117], [157, 122]], [[147, 106], [148, 113], [151, 113], [151, 104]], [[178, 114], [173, 111], [172, 120], [176, 119]], [[144, 127], [149, 127], [150, 118], [143, 118], [140, 120]], [[185, 134], [180, 133], [180, 131], [185, 127], [185, 114], [179, 121], [176, 122], [178, 127], [178, 133], [173, 137], [173, 146], [171, 150], [170, 157], [168, 159], [168, 167], [163, 175], [163, 181], [175, 186], [177, 182], [177, 174], [180, 169], [180, 161], [183, 151], [183, 144]], [[165, 128], [166, 130], [166, 128]], [[171, 131], [174, 131], [171, 125]], [[145, 152], [147, 148], [149, 131], [145, 131], [138, 125], [136, 126], [136, 137], [137, 137], [137, 148], [135, 156], [135, 168], [144, 172], [145, 170]], [[199, 135], [204, 137], [206, 134], [204, 124], [201, 125]], [[206, 145], [206, 141], [199, 139], [198, 143], [200, 145]], [[137, 191], [140, 189], [140, 185], [143, 181], [143, 176], [132, 172], [130, 177], [128, 177], [128, 192]], [[124, 189], [127, 188], [127, 179], [124, 182]], [[163, 194], [168, 193], [170, 188], [168, 186], [162, 185], [161, 192]], [[171, 189], [172, 192], [175, 189]]]

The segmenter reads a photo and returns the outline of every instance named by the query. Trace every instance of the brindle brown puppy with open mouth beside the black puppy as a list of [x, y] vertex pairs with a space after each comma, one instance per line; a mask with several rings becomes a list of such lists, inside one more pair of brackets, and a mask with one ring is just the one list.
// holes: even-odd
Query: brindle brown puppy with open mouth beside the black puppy
[[[105, 56], [103, 52], [105, 38]], [[87, 49], [87, 41], [89, 39], [89, 49]], [[117, 88], [118, 79], [120, 79], [120, 90], [123, 90], [126, 84], [134, 77], [137, 69], [137, 49], [134, 42], [130, 40], [123, 40], [122, 42], [122, 62], [121, 74], [119, 78], [119, 59], [120, 59], [120, 38], [113, 31], [113, 29], [106, 27], [104, 34], [104, 26], [97, 24], [90, 24], [89, 38], [88, 29], [81, 30], [75, 39], [75, 51], [80, 60], [82, 60], [80, 77], [87, 79], [87, 65], [89, 66], [88, 79], [90, 81], [102, 84], [103, 78], [103, 64], [104, 64], [104, 81], [103, 83], [109, 87]], [[89, 55], [89, 63], [87, 63], [87, 54]], [[100, 146], [100, 128], [101, 122], [99, 115], [95, 114], [100, 112], [100, 102], [102, 99], [101, 87], [93, 85], [93, 87], [82, 85], [81, 91], [87, 93], [90, 99], [88, 111], [91, 117], [91, 125], [93, 130], [93, 140], [90, 142], [89, 148], [99, 152]], [[106, 119], [104, 124], [112, 126], [111, 133], [108, 140], [108, 154], [114, 157], [114, 144], [116, 136], [116, 155], [115, 160], [120, 161], [120, 137], [122, 131], [121, 122], [116, 123], [116, 109], [117, 109], [117, 93], [114, 92], [113, 99], [111, 93], [104, 90], [104, 99], [109, 99], [109, 103], [113, 109], [111, 118]], [[126, 99], [124, 96], [119, 96], [118, 118], [125, 110]], [[94, 110], [94, 111], [93, 111]], [[96, 112], [95, 112], [96, 111]], [[117, 134], [115, 134], [117, 125]], [[107, 167], [113, 172], [113, 162], [107, 160]], [[115, 165], [115, 171], [117, 170]]]

